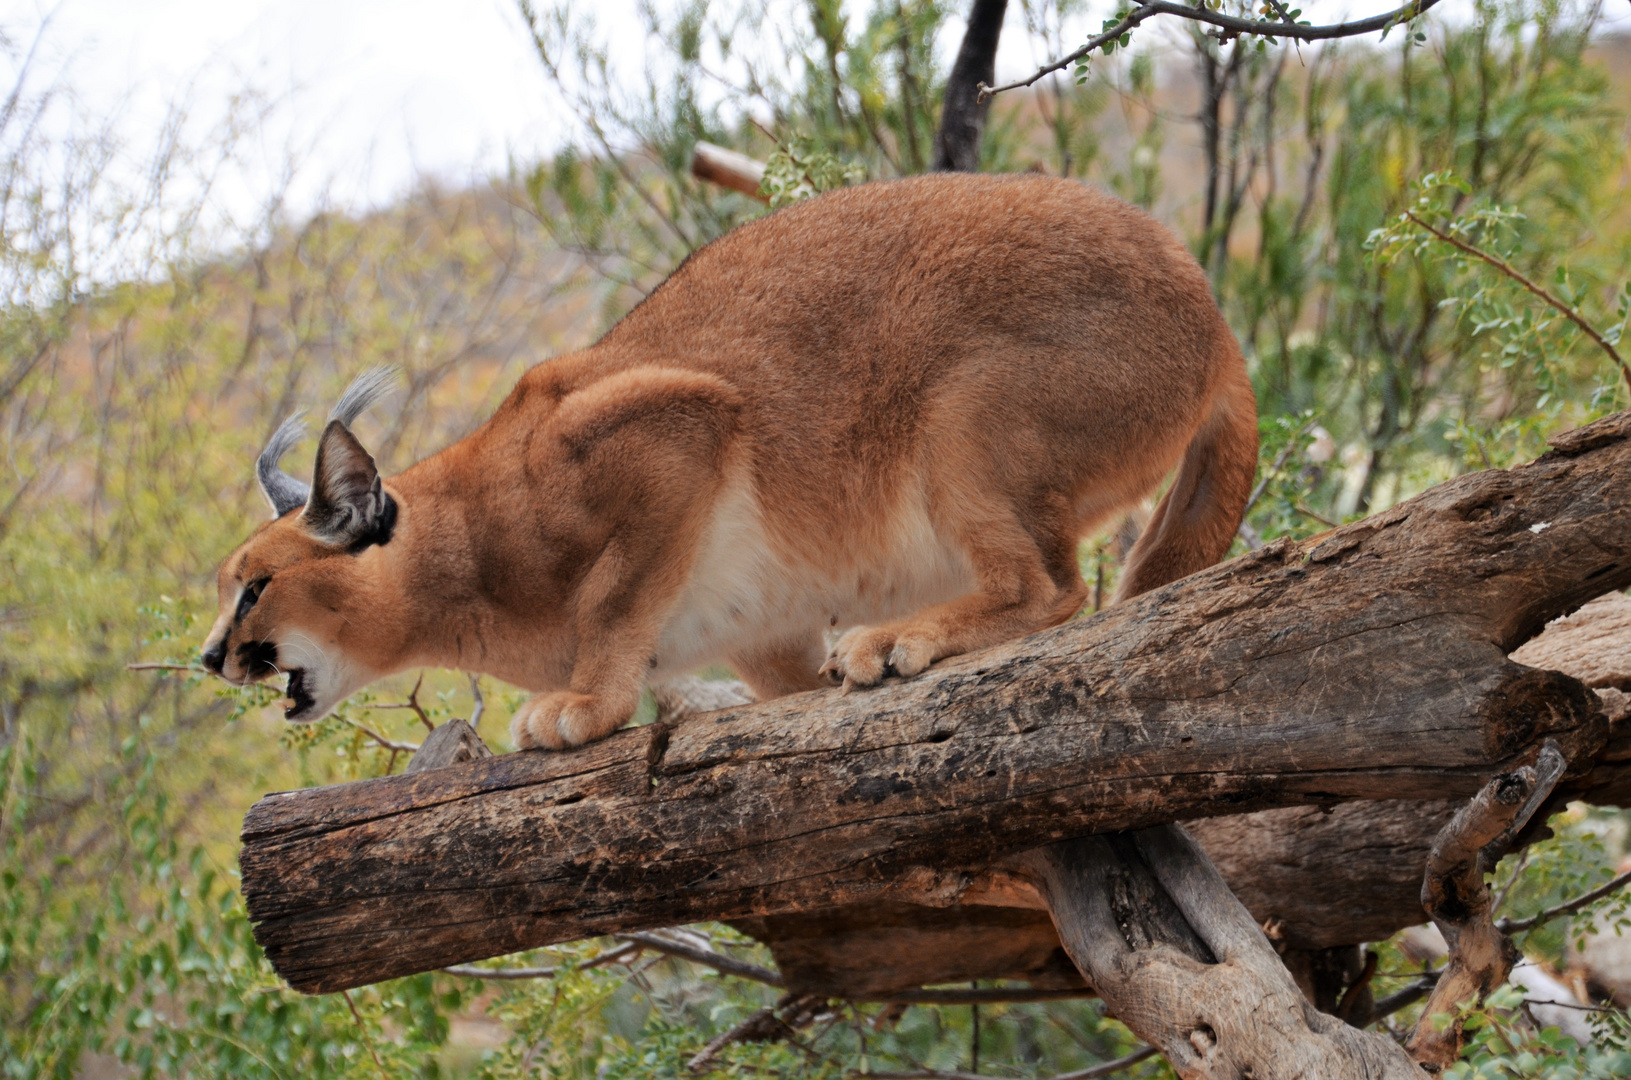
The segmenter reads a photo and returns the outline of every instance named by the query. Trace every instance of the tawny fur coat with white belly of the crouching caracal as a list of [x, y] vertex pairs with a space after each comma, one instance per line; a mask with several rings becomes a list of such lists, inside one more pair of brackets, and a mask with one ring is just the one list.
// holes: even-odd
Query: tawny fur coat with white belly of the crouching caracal
[[264, 525], [207, 648], [235, 680], [321, 667], [302, 719], [408, 667], [486, 672], [537, 692], [519, 746], [577, 746], [708, 662], [767, 698], [1060, 623], [1078, 540], [1174, 465], [1120, 595], [1182, 578], [1228, 548], [1256, 447], [1240, 349], [1150, 217], [1037, 176], [864, 184], [737, 228], [527, 372], [385, 481], [387, 543]]

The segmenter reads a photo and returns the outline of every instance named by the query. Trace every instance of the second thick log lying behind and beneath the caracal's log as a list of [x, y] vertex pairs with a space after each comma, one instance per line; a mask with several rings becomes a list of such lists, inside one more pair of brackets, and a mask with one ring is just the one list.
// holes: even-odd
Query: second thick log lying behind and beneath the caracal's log
[[[1626, 609], [1631, 599], [1608, 594], [1548, 625], [1512, 654], [1595, 687], [1613, 724], [1593, 770], [1562, 785], [1548, 811], [1574, 798], [1631, 803], [1631, 695], [1603, 685], [1626, 679], [1624, 664], [1631, 657], [1631, 623], [1621, 620], [1631, 613]], [[1192, 821], [1186, 829], [1253, 918], [1272, 930], [1271, 938], [1305, 995], [1333, 1011], [1352, 989], [1352, 976], [1362, 971], [1333, 971], [1329, 961], [1344, 949], [1357, 959], [1352, 946], [1421, 923], [1422, 866], [1439, 830], [1463, 806], [1465, 799], [1360, 799]], [[1536, 918], [1571, 914], [1607, 896], [1613, 884]], [[1080, 984], [1042, 899], [1001, 871], [979, 876], [951, 907], [873, 902], [740, 918], [734, 925], [770, 946], [788, 985], [832, 997], [873, 1000], [894, 989], [970, 979], [1023, 979], [1036, 987]], [[1535, 920], [1497, 925], [1504, 933], [1517, 933]], [[1357, 1000], [1352, 1018], [1362, 1026], [1367, 1015], [1377, 1018], [1404, 1008], [1430, 987], [1432, 979], [1368, 1008]]]

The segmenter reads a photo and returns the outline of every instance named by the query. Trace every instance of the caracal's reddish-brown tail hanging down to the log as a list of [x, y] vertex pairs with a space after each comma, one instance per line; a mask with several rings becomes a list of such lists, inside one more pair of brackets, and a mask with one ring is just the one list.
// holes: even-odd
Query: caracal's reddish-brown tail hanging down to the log
[[1212, 566], [1240, 529], [1258, 473], [1258, 398], [1233, 338], [1222, 347], [1228, 357], [1212, 411], [1127, 556], [1117, 602]]

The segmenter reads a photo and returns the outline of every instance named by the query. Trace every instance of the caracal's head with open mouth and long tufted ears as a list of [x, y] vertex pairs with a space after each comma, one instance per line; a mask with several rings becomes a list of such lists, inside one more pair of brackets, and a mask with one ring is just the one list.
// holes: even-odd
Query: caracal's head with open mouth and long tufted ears
[[305, 431], [290, 416], [256, 462], [272, 504], [266, 522], [215, 573], [220, 613], [204, 666], [235, 685], [287, 675], [284, 716], [310, 723], [388, 674], [370, 558], [396, 525], [396, 501], [351, 423], [395, 377], [375, 369], [346, 390], [318, 442], [312, 486], [277, 460]]

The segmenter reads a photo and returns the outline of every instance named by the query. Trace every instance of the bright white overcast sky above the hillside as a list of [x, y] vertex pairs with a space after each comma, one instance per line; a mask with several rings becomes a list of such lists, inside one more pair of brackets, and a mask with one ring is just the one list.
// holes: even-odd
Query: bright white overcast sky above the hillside
[[[643, 52], [636, 2], [584, 0], [631, 72]], [[1368, 15], [1388, 2], [1321, 3], [1321, 18], [1344, 8]], [[1000, 77], [1041, 59], [1013, 33], [1018, 7], [1010, 5]], [[266, 168], [290, 152], [300, 158], [295, 215], [323, 194], [369, 206], [422, 175], [486, 176], [511, 153], [525, 160], [569, 132], [512, 0], [0, 0], [0, 29], [26, 42], [47, 13], [41, 75], [62, 72], [85, 113], [117, 116], [135, 147], [153, 142], [171, 101], [194, 103], [207, 124], [245, 86], [281, 98], [261, 155]], [[1615, 15], [1624, 24], [1624, 13]], [[961, 36], [961, 21], [948, 24], [946, 64]]]

